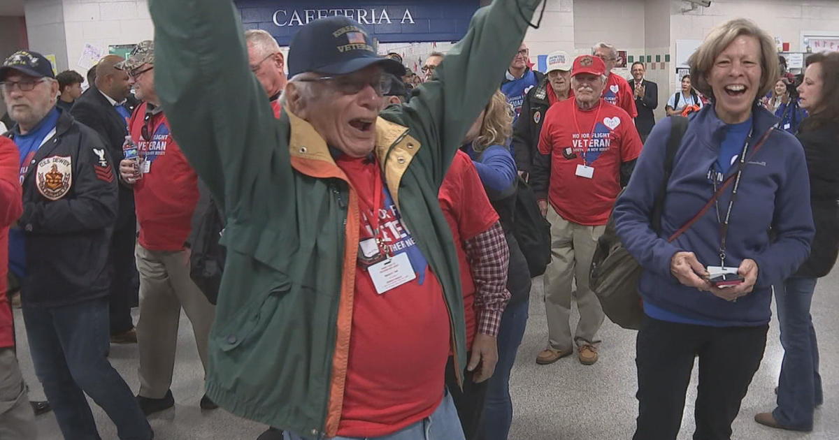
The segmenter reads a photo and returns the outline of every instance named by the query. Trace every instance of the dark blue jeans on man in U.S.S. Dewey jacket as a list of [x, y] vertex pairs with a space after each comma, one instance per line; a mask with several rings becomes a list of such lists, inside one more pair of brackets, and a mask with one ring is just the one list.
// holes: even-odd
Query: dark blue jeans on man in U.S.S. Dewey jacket
[[152, 429], [131, 389], [107, 360], [107, 298], [64, 307], [24, 307], [35, 375], [65, 440], [99, 440], [85, 394], [102, 406], [122, 440], [149, 440]]

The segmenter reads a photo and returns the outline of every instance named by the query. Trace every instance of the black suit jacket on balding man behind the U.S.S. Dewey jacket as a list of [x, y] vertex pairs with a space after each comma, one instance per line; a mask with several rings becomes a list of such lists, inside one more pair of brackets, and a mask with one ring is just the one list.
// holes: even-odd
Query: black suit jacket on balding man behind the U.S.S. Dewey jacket
[[[137, 106], [136, 100], [128, 100], [125, 104], [129, 113], [133, 113], [135, 106]], [[113, 108], [111, 102], [102, 95], [96, 85], [91, 85], [81, 94], [72, 110], [70, 110], [70, 114], [76, 118], [76, 121], [99, 133], [102, 141], [105, 142], [108, 153], [111, 155], [111, 160], [114, 162], [114, 168], [118, 170], [119, 161], [122, 159], [122, 142], [125, 142], [125, 137], [128, 135], [125, 118]], [[128, 185], [119, 185], [119, 210], [116, 229], [136, 228], [134, 190]]]

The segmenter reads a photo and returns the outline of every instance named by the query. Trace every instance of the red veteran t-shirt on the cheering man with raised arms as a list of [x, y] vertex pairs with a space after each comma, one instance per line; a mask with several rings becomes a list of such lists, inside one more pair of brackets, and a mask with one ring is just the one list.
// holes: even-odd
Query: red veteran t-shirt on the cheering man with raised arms
[[[347, 384], [338, 425], [341, 437], [381, 437], [419, 422], [443, 398], [450, 347], [443, 289], [383, 184], [377, 162], [339, 158], [362, 203], [360, 241], [373, 237], [367, 215], [379, 199], [380, 238], [398, 255], [407, 253], [416, 278], [379, 294], [367, 269], [356, 270], [356, 292]], [[376, 182], [379, 184], [376, 184]], [[382, 188], [376, 197], [376, 189]]]

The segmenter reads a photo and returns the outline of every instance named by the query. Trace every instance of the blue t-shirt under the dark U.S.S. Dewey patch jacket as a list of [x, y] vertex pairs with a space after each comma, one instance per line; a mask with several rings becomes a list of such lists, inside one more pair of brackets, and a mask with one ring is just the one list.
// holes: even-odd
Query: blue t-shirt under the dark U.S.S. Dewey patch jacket
[[[53, 107], [53, 109], [44, 116], [41, 122], [38, 122], [31, 131], [26, 134], [17, 134], [14, 137], [14, 143], [18, 146], [20, 152], [20, 179], [29, 169], [29, 163], [32, 162], [35, 153], [44, 142], [44, 138], [55, 128], [58, 123], [60, 111]], [[23, 237], [23, 230], [12, 228], [8, 230], [8, 269], [18, 278], [26, 276], [26, 243]]]

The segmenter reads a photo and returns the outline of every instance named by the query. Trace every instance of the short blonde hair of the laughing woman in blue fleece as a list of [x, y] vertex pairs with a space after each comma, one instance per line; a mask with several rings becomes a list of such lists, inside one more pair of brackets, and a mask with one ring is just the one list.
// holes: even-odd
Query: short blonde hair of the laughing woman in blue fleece
[[755, 100], [766, 96], [774, 87], [780, 76], [778, 49], [775, 47], [775, 40], [762, 28], [758, 28], [758, 25], [751, 20], [735, 18], [712, 28], [699, 49], [696, 49], [696, 52], [690, 55], [687, 60], [687, 64], [690, 66], [691, 85], [702, 95], [709, 96], [712, 100], [716, 99], [706, 76], [711, 73], [711, 68], [713, 68], [717, 56], [728, 47], [728, 44], [732, 44], [732, 41], [741, 35], [754, 37], [758, 39], [760, 44], [760, 90], [758, 90]]

